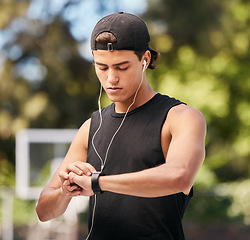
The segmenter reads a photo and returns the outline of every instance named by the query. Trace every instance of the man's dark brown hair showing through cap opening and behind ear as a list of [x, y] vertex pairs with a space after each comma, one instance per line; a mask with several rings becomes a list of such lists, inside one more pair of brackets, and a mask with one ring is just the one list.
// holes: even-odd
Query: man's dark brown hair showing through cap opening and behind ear
[[[96, 42], [101, 43], [101, 44], [107, 44], [107, 43], [115, 43], [117, 42], [117, 39], [114, 34], [110, 32], [103, 32], [99, 34], [96, 38]], [[154, 62], [159, 58], [160, 54], [156, 52], [155, 50], [149, 49], [151, 53], [151, 59], [150, 63], [148, 65], [149, 69], [155, 69], [156, 66], [154, 65]], [[134, 51], [135, 55], [138, 57], [139, 61], [141, 61], [142, 56], [144, 55], [145, 51]]]

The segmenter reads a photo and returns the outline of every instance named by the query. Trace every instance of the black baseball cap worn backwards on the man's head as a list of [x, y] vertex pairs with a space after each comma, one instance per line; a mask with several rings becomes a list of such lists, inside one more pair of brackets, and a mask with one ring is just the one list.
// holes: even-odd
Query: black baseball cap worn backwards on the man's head
[[[115, 43], [97, 43], [96, 38], [103, 32], [112, 33]], [[92, 50], [152, 50], [148, 43], [150, 36], [144, 21], [130, 13], [118, 12], [108, 15], [97, 22], [91, 35]]]

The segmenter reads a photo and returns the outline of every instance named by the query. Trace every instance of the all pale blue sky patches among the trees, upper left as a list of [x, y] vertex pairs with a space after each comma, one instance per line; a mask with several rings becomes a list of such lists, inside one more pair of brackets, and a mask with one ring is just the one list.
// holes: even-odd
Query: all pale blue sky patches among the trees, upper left
[[[0, 29], [0, 71], [7, 58], [17, 60], [22, 48], [15, 44], [16, 35], [30, 27], [30, 20], [41, 20], [50, 24], [55, 16], [61, 15], [69, 23], [72, 36], [79, 41], [79, 53], [92, 61], [89, 46], [92, 29], [105, 15], [124, 11], [140, 16], [147, 10], [147, 0], [31, 0], [26, 16], [13, 19], [6, 29]], [[41, 34], [37, 29], [37, 34]], [[4, 49], [6, 44], [8, 50]], [[20, 66], [19, 66], [20, 65]], [[38, 58], [27, 59], [17, 65], [15, 74], [29, 81], [39, 81], [46, 75], [46, 69]]]

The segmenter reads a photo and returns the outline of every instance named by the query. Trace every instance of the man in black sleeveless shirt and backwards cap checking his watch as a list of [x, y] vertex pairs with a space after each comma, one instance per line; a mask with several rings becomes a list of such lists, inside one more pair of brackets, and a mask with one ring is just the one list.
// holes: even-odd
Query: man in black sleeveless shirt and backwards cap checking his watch
[[101, 19], [91, 37], [95, 70], [109, 99], [79, 129], [41, 193], [37, 214], [63, 214], [90, 197], [89, 239], [184, 239], [182, 217], [205, 156], [202, 114], [152, 90], [145, 69], [158, 53], [138, 17]]

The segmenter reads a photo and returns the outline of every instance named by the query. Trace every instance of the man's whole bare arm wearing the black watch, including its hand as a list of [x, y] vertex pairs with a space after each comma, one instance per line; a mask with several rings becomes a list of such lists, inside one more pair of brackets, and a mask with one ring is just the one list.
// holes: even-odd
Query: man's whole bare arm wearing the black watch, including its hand
[[[100, 188], [140, 197], [158, 197], [178, 192], [188, 194], [205, 157], [204, 117], [191, 107], [174, 107], [169, 112], [162, 134], [171, 136], [166, 163], [140, 172], [101, 176]], [[165, 139], [164, 136], [162, 139]], [[91, 188], [88, 176], [71, 174], [70, 178], [86, 189]]]

